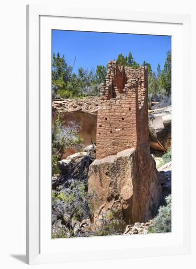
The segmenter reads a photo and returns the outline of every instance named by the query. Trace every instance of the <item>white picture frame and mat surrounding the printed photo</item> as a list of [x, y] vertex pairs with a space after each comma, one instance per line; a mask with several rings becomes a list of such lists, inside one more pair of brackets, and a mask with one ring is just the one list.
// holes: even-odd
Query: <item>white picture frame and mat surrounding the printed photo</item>
[[[27, 5], [26, 14], [26, 262], [41, 264], [190, 253], [191, 147], [187, 141], [191, 140], [188, 120], [191, 77], [190, 68], [186, 67], [191, 66], [191, 17], [50, 5]], [[172, 233], [52, 240], [51, 138], [47, 135], [51, 133], [51, 30], [114, 32], [115, 28], [115, 32], [120, 32], [122, 25], [126, 33], [174, 37]], [[179, 142], [183, 145], [180, 149]]]

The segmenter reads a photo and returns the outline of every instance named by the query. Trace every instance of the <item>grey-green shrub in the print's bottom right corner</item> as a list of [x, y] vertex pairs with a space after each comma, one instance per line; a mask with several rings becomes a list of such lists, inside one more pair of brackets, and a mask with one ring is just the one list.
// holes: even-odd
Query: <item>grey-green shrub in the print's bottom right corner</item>
[[165, 198], [166, 205], [160, 206], [157, 216], [152, 220], [149, 233], [167, 233], [172, 231], [172, 196]]

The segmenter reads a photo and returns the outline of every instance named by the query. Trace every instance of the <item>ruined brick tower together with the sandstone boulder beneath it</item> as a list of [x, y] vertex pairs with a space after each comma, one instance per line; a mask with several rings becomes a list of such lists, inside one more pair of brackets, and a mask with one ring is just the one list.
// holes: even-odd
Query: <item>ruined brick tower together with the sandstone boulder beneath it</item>
[[162, 191], [148, 141], [145, 67], [109, 62], [98, 104], [96, 157], [88, 174], [94, 223], [110, 210], [125, 224], [152, 219]]

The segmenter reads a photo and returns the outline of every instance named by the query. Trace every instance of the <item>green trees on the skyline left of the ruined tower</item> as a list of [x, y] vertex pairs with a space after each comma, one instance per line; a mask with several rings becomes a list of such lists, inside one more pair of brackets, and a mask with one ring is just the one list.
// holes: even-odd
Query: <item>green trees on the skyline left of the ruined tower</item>
[[100, 84], [105, 81], [107, 68], [97, 66], [96, 71], [78, 68], [78, 74], [72, 73], [73, 66], [68, 65], [64, 55], [52, 57], [52, 93], [53, 97], [76, 98], [98, 95]]

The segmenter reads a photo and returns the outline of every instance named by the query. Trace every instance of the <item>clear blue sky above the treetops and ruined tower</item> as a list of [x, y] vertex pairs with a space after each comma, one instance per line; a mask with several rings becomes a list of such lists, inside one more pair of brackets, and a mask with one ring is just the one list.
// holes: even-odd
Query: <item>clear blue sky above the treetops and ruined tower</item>
[[126, 56], [129, 51], [137, 63], [141, 65], [145, 60], [156, 71], [158, 63], [163, 68], [170, 49], [170, 36], [53, 30], [52, 51], [64, 55], [71, 65], [76, 56], [75, 73], [78, 67], [96, 70], [97, 65], [106, 66], [119, 53]]

